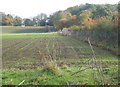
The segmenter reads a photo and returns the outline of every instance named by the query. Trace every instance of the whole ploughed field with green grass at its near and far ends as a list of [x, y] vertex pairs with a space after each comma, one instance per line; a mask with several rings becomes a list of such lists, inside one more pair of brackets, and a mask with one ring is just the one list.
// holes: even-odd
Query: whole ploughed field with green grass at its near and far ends
[[3, 85], [118, 84], [118, 58], [45, 27], [3, 27]]

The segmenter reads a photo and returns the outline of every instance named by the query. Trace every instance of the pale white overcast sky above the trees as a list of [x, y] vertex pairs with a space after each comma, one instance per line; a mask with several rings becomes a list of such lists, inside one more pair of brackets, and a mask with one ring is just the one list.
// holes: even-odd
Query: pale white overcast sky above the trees
[[52, 14], [80, 4], [118, 4], [119, 0], [1, 0], [0, 12], [22, 18], [34, 17], [40, 13]]

